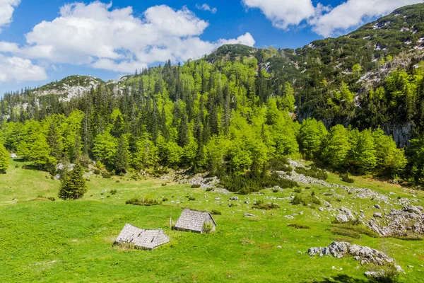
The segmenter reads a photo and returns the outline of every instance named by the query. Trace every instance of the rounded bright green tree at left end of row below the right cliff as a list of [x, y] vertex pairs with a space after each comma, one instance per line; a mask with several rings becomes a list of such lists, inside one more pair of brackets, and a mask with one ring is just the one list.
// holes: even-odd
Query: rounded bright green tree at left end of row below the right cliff
[[308, 118], [302, 121], [298, 139], [306, 158], [319, 158], [328, 131], [321, 121]]

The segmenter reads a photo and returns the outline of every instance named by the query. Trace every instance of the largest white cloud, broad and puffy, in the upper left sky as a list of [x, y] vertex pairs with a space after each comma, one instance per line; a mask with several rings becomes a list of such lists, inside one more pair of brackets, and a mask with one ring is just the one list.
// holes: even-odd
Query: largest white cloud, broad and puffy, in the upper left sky
[[99, 1], [66, 4], [53, 21], [35, 25], [26, 35], [28, 44], [16, 53], [54, 64], [133, 72], [167, 59], [197, 59], [225, 43], [254, 45], [249, 33], [216, 42], [201, 40], [207, 27], [208, 22], [185, 6], [179, 10], [153, 6], [138, 18], [131, 7], [113, 9]]

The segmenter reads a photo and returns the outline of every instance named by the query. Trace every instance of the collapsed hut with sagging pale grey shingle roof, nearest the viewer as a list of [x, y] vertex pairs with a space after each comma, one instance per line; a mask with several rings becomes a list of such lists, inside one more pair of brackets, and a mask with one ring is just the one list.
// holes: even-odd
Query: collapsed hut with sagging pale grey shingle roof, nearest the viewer
[[143, 250], [153, 250], [153, 248], [162, 246], [169, 241], [170, 238], [166, 236], [162, 229], [144, 230], [132, 226], [131, 224], [125, 224], [115, 244], [130, 244]]

